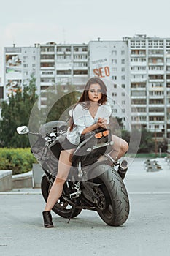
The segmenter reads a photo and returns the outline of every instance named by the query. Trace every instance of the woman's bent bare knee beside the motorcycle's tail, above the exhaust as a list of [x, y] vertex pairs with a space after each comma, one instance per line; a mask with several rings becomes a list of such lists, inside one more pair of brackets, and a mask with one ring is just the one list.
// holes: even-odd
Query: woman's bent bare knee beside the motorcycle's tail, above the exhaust
[[112, 141], [113, 146], [110, 155], [113, 159], [118, 160], [128, 151], [128, 143], [116, 135], [112, 135]]

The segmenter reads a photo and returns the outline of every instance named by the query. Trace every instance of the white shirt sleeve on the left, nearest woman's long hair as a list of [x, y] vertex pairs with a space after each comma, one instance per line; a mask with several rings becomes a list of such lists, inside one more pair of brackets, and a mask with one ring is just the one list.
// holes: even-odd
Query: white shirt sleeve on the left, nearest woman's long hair
[[77, 127], [77, 132], [81, 135], [83, 129], [85, 129], [85, 113], [80, 104], [76, 106], [73, 110], [73, 120], [74, 124]]

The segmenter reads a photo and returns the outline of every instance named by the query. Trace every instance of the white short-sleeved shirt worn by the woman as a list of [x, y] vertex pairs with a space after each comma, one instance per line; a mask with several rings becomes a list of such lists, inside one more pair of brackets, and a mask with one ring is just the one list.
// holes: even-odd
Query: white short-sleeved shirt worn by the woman
[[93, 124], [96, 124], [98, 118], [104, 118], [109, 124], [109, 117], [112, 113], [111, 107], [107, 102], [105, 105], [99, 105], [96, 112], [96, 116], [93, 118], [88, 109], [80, 105], [80, 103], [72, 111], [74, 119], [74, 128], [72, 131], [67, 130], [66, 138], [74, 145], [79, 145], [80, 135], [82, 135], [83, 129], [90, 127]]

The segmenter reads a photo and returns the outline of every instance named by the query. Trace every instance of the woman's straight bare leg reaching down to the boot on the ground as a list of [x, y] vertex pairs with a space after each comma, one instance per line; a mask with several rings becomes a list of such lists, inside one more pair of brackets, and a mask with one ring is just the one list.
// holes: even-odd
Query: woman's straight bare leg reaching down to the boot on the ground
[[60, 159], [58, 162], [58, 174], [55, 178], [50, 193], [47, 198], [47, 203], [45, 206], [45, 211], [50, 211], [58, 199], [61, 197], [63, 191], [63, 184], [69, 175], [69, 170], [72, 163], [69, 161], [70, 154], [72, 154], [74, 149], [61, 151]]

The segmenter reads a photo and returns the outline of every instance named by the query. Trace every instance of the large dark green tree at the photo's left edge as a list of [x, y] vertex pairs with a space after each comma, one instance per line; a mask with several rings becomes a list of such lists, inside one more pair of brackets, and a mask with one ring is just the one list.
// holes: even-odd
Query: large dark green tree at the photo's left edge
[[18, 135], [16, 128], [27, 125], [31, 109], [36, 102], [35, 78], [31, 78], [29, 86], [18, 89], [16, 94], [9, 96], [8, 102], [1, 104], [0, 146], [7, 148], [25, 148], [29, 146], [28, 135]]

